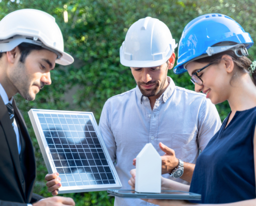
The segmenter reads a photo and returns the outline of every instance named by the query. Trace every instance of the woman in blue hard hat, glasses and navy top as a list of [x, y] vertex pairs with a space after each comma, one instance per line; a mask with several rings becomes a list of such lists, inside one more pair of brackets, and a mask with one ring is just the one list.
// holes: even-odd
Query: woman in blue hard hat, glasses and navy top
[[[231, 112], [199, 156], [191, 185], [162, 178], [162, 190], [202, 195], [201, 201], [147, 200], [158, 205], [256, 205], [256, 63], [248, 59], [249, 33], [229, 16], [191, 21], [179, 42], [175, 74], [188, 72], [196, 92]], [[135, 170], [129, 181], [134, 186]], [[192, 203], [193, 202], [193, 203]]]

